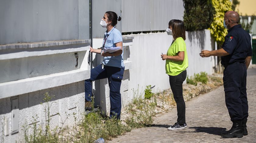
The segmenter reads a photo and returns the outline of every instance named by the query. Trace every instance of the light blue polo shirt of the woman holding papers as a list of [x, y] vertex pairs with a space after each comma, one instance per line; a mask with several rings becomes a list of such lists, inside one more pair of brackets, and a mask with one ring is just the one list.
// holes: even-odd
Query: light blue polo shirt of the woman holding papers
[[[116, 47], [115, 43], [123, 42], [122, 34], [116, 29], [116, 26], [114, 26], [109, 32], [105, 32], [102, 47], [104, 45], [105, 38], [107, 38], [105, 48]], [[105, 66], [114, 66], [119, 68], [124, 67], [123, 52], [119, 56], [105, 56], [102, 64]]]

